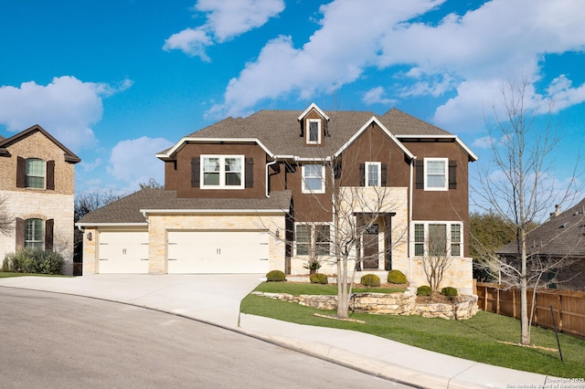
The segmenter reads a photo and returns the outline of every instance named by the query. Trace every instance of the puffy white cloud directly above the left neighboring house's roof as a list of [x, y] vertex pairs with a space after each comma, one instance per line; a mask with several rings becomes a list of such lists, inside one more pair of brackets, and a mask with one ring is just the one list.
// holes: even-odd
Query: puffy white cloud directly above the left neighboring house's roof
[[72, 76], [56, 77], [44, 86], [35, 81], [20, 87], [0, 87], [0, 124], [8, 131], [23, 131], [39, 124], [74, 152], [95, 145], [91, 125], [101, 120], [102, 98], [130, 88], [83, 82]]

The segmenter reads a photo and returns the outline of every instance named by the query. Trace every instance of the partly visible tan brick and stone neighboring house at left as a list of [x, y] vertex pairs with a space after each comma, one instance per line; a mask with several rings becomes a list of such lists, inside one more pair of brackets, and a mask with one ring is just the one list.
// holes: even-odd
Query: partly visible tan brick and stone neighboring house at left
[[0, 259], [21, 247], [54, 250], [73, 271], [75, 163], [80, 158], [35, 125], [0, 137], [0, 196], [14, 231], [0, 234]]

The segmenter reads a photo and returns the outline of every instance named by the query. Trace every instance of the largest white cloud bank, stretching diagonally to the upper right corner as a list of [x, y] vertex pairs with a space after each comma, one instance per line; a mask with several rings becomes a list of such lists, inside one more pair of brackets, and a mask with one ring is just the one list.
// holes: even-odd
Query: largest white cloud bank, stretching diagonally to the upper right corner
[[[320, 27], [307, 42], [300, 47], [293, 37], [267, 42], [208, 113], [237, 116], [262, 100], [288, 95], [308, 100], [354, 82], [367, 68], [400, 66], [407, 70], [397, 77], [411, 84], [396, 90], [397, 96], [449, 93], [452, 98], [434, 121], [451, 131], [477, 131], [484, 104], [501, 96], [503, 81], [524, 77], [532, 86], [547, 54], [585, 47], [585, 2], [580, 0], [493, 0], [435, 25], [418, 21], [442, 3], [335, 0], [322, 5]], [[554, 94], [542, 97], [531, 89], [527, 100], [551, 97], [559, 109], [585, 100], [585, 86], [557, 82]], [[391, 99], [388, 87], [383, 86]]]

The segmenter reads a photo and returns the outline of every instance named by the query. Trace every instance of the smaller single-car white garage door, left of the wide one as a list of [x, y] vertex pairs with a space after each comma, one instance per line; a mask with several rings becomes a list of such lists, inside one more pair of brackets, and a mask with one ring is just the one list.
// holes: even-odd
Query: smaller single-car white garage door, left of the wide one
[[99, 273], [148, 273], [147, 232], [101, 232]]

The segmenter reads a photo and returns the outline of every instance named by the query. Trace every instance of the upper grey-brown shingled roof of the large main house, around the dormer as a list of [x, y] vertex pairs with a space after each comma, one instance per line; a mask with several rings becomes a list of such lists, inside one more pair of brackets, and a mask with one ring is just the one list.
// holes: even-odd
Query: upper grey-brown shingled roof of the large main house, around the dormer
[[[333, 110], [325, 112], [329, 121], [326, 123], [324, 146], [315, 148], [307, 145], [301, 137], [302, 123], [298, 121], [298, 117], [302, 113], [301, 110], [260, 110], [247, 118], [218, 121], [187, 135], [186, 138], [258, 139], [274, 155], [315, 158], [337, 152], [372, 118], [376, 118], [397, 136], [453, 136], [450, 132], [396, 109], [389, 110], [383, 116], [371, 111]], [[319, 155], [315, 155], [316, 152]]]

